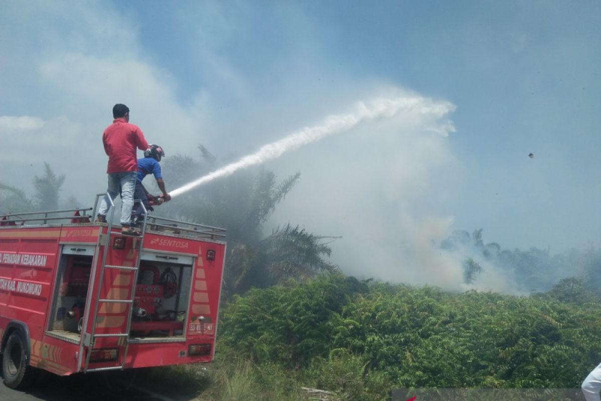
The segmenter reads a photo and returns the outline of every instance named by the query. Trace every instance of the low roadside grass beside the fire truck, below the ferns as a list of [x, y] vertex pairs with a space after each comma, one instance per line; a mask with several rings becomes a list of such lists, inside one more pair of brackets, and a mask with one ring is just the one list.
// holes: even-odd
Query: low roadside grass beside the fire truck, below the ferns
[[156, 368], [153, 378], [197, 401], [379, 400], [388, 385], [383, 377], [367, 375], [365, 361], [346, 351], [316, 358], [307, 369], [297, 370], [255, 364], [226, 351], [209, 364]]

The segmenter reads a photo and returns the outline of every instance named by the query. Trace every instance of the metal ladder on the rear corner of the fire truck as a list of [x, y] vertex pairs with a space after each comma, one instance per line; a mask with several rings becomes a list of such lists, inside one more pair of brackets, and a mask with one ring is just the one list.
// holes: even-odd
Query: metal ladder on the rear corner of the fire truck
[[[98, 201], [98, 197], [100, 195], [104, 195], [104, 194], [97, 195], [97, 201]], [[103, 370], [122, 370], [125, 367], [127, 351], [129, 350], [129, 332], [130, 332], [130, 329], [132, 326], [133, 299], [135, 298], [135, 295], [136, 295], [136, 283], [138, 283], [140, 254], [142, 252], [142, 243], [144, 241], [144, 234], [146, 233], [146, 221], [147, 221], [146, 217], [147, 217], [148, 212], [147, 212], [146, 208], [144, 207], [144, 203], [142, 203], [141, 201], [135, 200], [134, 206], [137, 202], [139, 202], [140, 205], [142, 206], [142, 209], [144, 210], [144, 223], [142, 224], [142, 231], [141, 231], [140, 236], [133, 237], [132, 247], [133, 247], [133, 252], [135, 255], [133, 266], [107, 265], [106, 259], [107, 259], [107, 255], [108, 255], [109, 246], [111, 246], [111, 237], [112, 236], [123, 236], [123, 234], [121, 234], [119, 231], [112, 231], [112, 221], [113, 221], [114, 214], [115, 214], [115, 204], [111, 200], [110, 196], [108, 196], [108, 198], [111, 201], [112, 212], [111, 212], [111, 218], [106, 219], [106, 221], [108, 223], [108, 229], [106, 231], [106, 239], [103, 240], [105, 248], [104, 248], [104, 252], [102, 255], [102, 265], [100, 268], [98, 289], [96, 291], [96, 296], [94, 298], [96, 300], [95, 306], [94, 306], [94, 312], [90, 315], [91, 321], [93, 323], [91, 325], [91, 332], [89, 334], [82, 333], [81, 350], [83, 350], [84, 346], [88, 347], [88, 352], [86, 353], [85, 364], [84, 364], [84, 369], [83, 369], [84, 373], [85, 372], [100, 372]], [[94, 206], [94, 211], [96, 212], [96, 206]], [[139, 249], [136, 249], [136, 241], [138, 241], [138, 243], [139, 243]], [[129, 299], [100, 298], [100, 290], [102, 289], [106, 269], [118, 269], [121, 271], [133, 271], [133, 280], [132, 280], [132, 286], [130, 288], [130, 298]], [[94, 277], [95, 277], [95, 275], [94, 275]], [[91, 287], [93, 287], [93, 286], [91, 286]], [[99, 310], [100, 303], [112, 303], [112, 304], [125, 304], [126, 305], [125, 313], [126, 313], [127, 323], [126, 323], [125, 332], [96, 334], [96, 320], [98, 317], [98, 310]], [[87, 322], [88, 321], [89, 321], [89, 319], [87, 320]], [[87, 327], [87, 322], [84, 323], [84, 328]], [[121, 363], [118, 366], [109, 366], [109, 367], [100, 367], [100, 368], [89, 369], [88, 366], [90, 365], [90, 356], [92, 354], [92, 350], [94, 349], [94, 344], [96, 343], [96, 338], [103, 338], [103, 337], [105, 337], [105, 338], [106, 337], [121, 337], [124, 339], [124, 344], [122, 345], [123, 354], [117, 357], [118, 359], [119, 358], [121, 359]], [[120, 348], [121, 348], [121, 344], [120, 344]]]

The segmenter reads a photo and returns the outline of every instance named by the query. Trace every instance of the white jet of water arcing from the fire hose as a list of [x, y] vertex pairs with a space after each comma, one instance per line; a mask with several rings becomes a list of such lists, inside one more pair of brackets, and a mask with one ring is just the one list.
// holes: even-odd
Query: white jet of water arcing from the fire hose
[[352, 129], [363, 121], [371, 121], [383, 117], [394, 117], [399, 112], [414, 109], [416, 106], [418, 109], [414, 111], [420, 114], [435, 112], [436, 114], [442, 115], [448, 111], [446, 107], [441, 107], [440, 105], [432, 104], [424, 106], [423, 98], [418, 97], [398, 97], [395, 99], [380, 98], [373, 100], [369, 105], [365, 105], [364, 102], [359, 102], [356, 105], [356, 111], [353, 113], [331, 115], [320, 125], [305, 127], [298, 132], [291, 133], [285, 138], [279, 139], [279, 141], [263, 145], [263, 147], [252, 155], [244, 156], [237, 162], [228, 164], [206, 176], [180, 186], [180, 188], [169, 192], [169, 195], [171, 195], [171, 197], [176, 197], [177, 195], [188, 192], [192, 188], [212, 181], [218, 177], [229, 176], [241, 168], [261, 164], [267, 160], [278, 158], [283, 153], [299, 148], [302, 145], [319, 141], [333, 133]]

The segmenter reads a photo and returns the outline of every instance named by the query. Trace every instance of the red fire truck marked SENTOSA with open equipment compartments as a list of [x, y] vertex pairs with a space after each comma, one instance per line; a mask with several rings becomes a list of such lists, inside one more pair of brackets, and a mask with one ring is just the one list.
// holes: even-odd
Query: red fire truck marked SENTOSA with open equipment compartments
[[0, 216], [8, 387], [30, 384], [36, 369], [71, 375], [213, 359], [225, 230], [148, 216], [140, 236], [124, 236], [113, 216], [91, 222], [95, 212]]

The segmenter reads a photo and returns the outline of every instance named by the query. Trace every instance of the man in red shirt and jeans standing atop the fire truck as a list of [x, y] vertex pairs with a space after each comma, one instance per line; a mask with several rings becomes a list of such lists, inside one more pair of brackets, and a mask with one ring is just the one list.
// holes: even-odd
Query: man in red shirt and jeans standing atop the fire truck
[[108, 167], [108, 195], [100, 202], [98, 221], [106, 222], [106, 213], [111, 207], [111, 200], [121, 194], [121, 233], [136, 235], [130, 225], [133, 207], [133, 191], [136, 188], [138, 176], [138, 158], [136, 148], [146, 150], [148, 142], [138, 126], [129, 123], [129, 108], [118, 103], [113, 107], [113, 123], [106, 127], [102, 134], [102, 143], [106, 155], [109, 156]]

